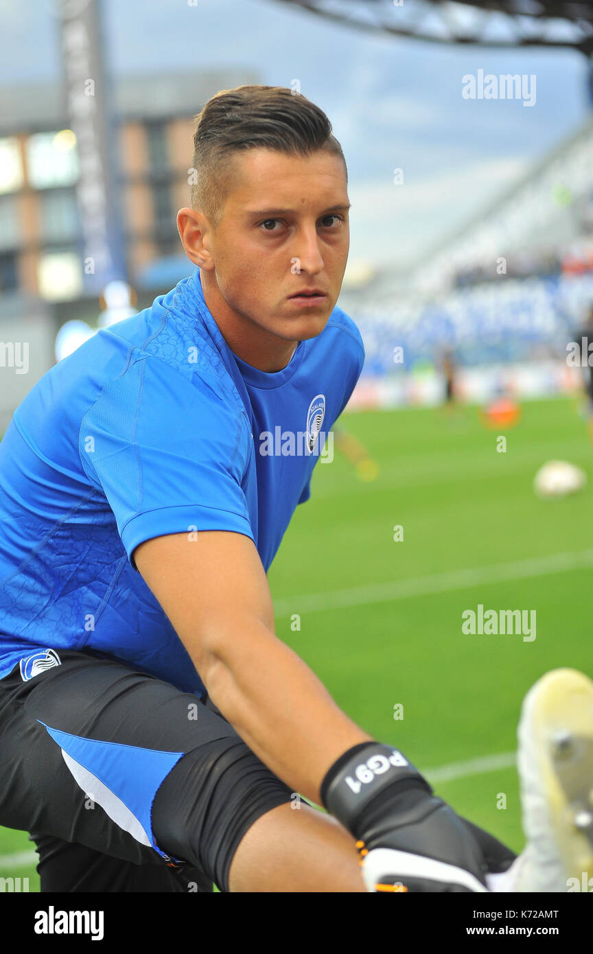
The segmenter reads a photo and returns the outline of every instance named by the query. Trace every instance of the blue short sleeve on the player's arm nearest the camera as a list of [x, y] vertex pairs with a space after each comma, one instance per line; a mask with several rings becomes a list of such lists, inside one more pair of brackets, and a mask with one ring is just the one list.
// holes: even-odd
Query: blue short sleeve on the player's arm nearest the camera
[[197, 374], [142, 359], [106, 384], [82, 419], [79, 453], [133, 550], [167, 533], [220, 529], [254, 539], [241, 487], [250, 452], [233, 396]]

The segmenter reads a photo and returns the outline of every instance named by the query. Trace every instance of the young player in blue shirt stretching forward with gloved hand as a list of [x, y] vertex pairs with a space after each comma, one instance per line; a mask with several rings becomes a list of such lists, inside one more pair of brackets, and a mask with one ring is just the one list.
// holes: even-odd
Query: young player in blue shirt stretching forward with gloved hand
[[[0, 444], [0, 824], [43, 891], [359, 892], [357, 847], [378, 890], [485, 891], [514, 854], [274, 631], [266, 570], [363, 360], [341, 149], [305, 97], [240, 87], [194, 170], [192, 277], [51, 368]], [[304, 452], [260, 453], [278, 426]]]

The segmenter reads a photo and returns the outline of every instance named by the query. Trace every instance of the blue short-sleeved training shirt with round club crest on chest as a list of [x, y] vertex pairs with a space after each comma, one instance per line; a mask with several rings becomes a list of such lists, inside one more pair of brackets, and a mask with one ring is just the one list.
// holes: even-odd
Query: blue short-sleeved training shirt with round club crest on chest
[[84, 649], [203, 695], [133, 550], [232, 530], [268, 570], [363, 358], [336, 307], [285, 368], [257, 370], [224, 341], [195, 268], [55, 364], [0, 443], [0, 678]]

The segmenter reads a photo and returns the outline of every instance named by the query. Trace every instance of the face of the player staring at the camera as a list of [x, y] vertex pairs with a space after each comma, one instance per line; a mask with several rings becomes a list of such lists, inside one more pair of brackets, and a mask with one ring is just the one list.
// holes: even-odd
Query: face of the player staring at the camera
[[[218, 228], [208, 223], [203, 233], [215, 294], [238, 321], [264, 333], [290, 342], [314, 338], [336, 305], [348, 259], [344, 164], [322, 151], [302, 157], [268, 149], [235, 153], [233, 163]], [[207, 279], [212, 293], [211, 274]], [[323, 297], [291, 299], [313, 287]]]

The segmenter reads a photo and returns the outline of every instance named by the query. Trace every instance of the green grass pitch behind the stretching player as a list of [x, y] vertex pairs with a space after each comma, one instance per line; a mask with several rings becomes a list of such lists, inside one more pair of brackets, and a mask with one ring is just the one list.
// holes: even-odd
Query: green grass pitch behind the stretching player
[[[451, 417], [429, 408], [365, 411], [343, 423], [378, 462], [378, 478], [359, 481], [336, 448], [332, 463], [317, 464], [311, 500], [296, 509], [269, 573], [277, 635], [349, 716], [398, 745], [428, 778], [442, 766], [513, 752], [522, 696], [539, 676], [559, 666], [593, 676], [593, 566], [578, 557], [564, 569], [545, 563], [593, 549], [593, 488], [562, 500], [533, 492], [536, 470], [553, 458], [591, 475], [576, 402], [523, 404], [520, 424], [508, 430], [485, 429], [472, 406]], [[475, 575], [463, 581], [458, 570]], [[403, 581], [415, 581], [407, 594], [374, 599], [364, 589]], [[327, 603], [316, 605], [315, 594]], [[479, 604], [535, 610], [535, 640], [462, 633], [461, 613]], [[512, 764], [461, 769], [434, 785], [460, 814], [521, 850]], [[0, 877], [29, 877], [38, 890], [34, 864], [3, 861], [22, 852], [31, 852], [27, 835], [0, 828]]]

